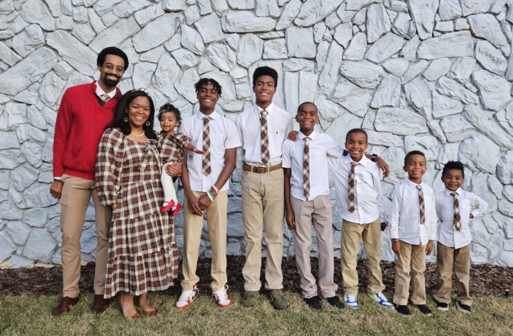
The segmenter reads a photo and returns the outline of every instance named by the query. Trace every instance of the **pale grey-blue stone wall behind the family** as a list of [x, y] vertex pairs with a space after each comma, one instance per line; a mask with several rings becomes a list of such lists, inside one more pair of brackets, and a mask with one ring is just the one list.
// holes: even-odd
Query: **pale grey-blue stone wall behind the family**
[[[436, 190], [444, 162], [461, 160], [465, 188], [491, 207], [472, 223], [472, 261], [513, 266], [512, 23], [512, 0], [2, 0], [0, 263], [60, 262], [60, 206], [48, 192], [57, 107], [116, 45], [131, 62], [122, 91], [147, 88], [157, 106], [169, 101], [184, 115], [195, 108], [192, 84], [214, 77], [219, 109], [234, 120], [251, 106], [254, 68], [276, 68], [276, 104], [294, 113], [314, 101], [320, 128], [339, 142], [350, 128], [368, 131], [369, 151], [390, 164], [388, 198], [407, 151], [426, 153]], [[240, 209], [234, 175], [229, 254], [244, 252]], [[180, 248], [181, 227], [179, 215]], [[340, 229], [335, 213], [337, 252]], [[89, 207], [85, 261], [94, 231]], [[288, 230], [284, 241], [292, 254]]]

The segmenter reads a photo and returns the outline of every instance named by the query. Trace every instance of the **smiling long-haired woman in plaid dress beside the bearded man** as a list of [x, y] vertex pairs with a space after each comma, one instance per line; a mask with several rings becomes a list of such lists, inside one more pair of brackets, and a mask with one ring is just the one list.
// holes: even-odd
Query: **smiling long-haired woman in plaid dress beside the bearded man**
[[129, 318], [141, 317], [134, 297], [143, 315], [156, 315], [146, 294], [172, 286], [178, 270], [174, 224], [159, 211], [160, 176], [163, 157], [179, 162], [183, 154], [176, 142], [157, 139], [153, 120], [154, 105], [145, 91], [125, 93], [96, 158], [98, 196], [113, 210], [105, 298], [119, 292], [118, 305]]

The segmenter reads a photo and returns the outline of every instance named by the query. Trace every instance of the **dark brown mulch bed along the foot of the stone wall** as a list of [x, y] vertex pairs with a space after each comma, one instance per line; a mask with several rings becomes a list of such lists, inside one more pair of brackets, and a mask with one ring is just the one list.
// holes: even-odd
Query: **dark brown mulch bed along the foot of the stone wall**
[[[240, 291], [243, 289], [244, 278], [242, 277], [242, 266], [244, 256], [228, 256], [228, 286], [231, 290]], [[262, 259], [262, 273], [260, 279], [264, 279], [265, 259]], [[294, 257], [283, 259], [283, 285], [285, 290], [300, 292], [299, 274], [296, 268]], [[312, 258], [312, 270], [318, 276], [317, 259]], [[393, 291], [395, 263], [381, 261], [383, 281], [387, 291]], [[202, 292], [210, 290], [210, 259], [201, 259], [198, 262], [197, 274], [200, 278], [199, 288]], [[363, 263], [358, 264], [359, 290], [366, 291], [367, 269]], [[93, 292], [94, 263], [82, 266], [82, 277], [80, 277], [80, 288], [82, 291]], [[180, 292], [179, 277], [175, 286], [166, 292], [178, 295]], [[335, 260], [335, 281], [341, 283], [340, 260]], [[436, 265], [429, 264], [426, 269], [426, 289], [431, 293], [435, 287]], [[470, 292], [471, 295], [504, 295], [505, 289], [512, 288], [513, 268], [506, 268], [494, 265], [472, 265], [470, 270]], [[262, 282], [262, 288], [263, 288]], [[454, 290], [455, 288], [453, 288]], [[513, 288], [512, 288], [513, 289]], [[0, 270], [0, 295], [20, 294], [60, 294], [62, 290], [62, 269], [60, 266], [53, 268], [16, 268]]]

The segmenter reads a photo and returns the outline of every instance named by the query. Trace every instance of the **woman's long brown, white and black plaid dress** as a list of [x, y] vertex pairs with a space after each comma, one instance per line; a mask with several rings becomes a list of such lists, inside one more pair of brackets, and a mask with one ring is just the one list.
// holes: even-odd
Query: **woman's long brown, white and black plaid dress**
[[134, 142], [118, 129], [102, 135], [96, 158], [100, 202], [117, 204], [109, 232], [105, 298], [141, 295], [172, 286], [178, 272], [174, 225], [161, 214], [161, 157], [181, 159], [181, 149], [162, 138]]

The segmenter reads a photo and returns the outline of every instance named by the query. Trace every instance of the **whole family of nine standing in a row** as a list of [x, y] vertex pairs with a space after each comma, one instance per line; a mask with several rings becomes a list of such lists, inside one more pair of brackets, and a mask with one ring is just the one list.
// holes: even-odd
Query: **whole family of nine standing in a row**
[[[129, 66], [125, 53], [105, 48], [97, 65], [98, 81], [66, 90], [55, 124], [51, 194], [61, 200], [63, 295], [52, 315], [68, 311], [79, 299], [80, 234], [91, 197], [98, 234], [93, 310], [102, 312], [108, 299], [116, 296], [125, 317], [157, 314], [147, 301], [147, 292], [172, 286], [179, 267], [173, 216], [181, 204], [172, 185], [178, 176], [184, 191], [183, 280], [174, 306], [184, 310], [198, 295], [196, 270], [205, 216], [212, 250], [213, 298], [219, 308], [231, 306], [226, 285], [227, 190], [235, 169], [241, 181], [246, 243], [242, 306], [253, 306], [260, 292], [262, 234], [267, 250], [264, 287], [269, 301], [276, 309], [289, 306], [282, 291], [281, 269], [285, 216], [307, 306], [322, 309], [309, 259], [313, 225], [318, 284], [326, 301], [339, 309], [359, 308], [356, 265], [363, 239], [368, 295], [380, 306], [393, 307], [382, 293], [385, 286], [379, 268], [381, 231], [388, 218], [393, 250], [398, 255], [393, 300], [397, 311], [410, 314], [406, 304], [411, 269], [411, 301], [424, 314], [431, 314], [425, 302], [423, 272], [425, 255], [431, 252], [434, 240], [438, 240], [440, 272], [435, 294], [438, 308], [447, 310], [449, 306], [454, 265], [456, 305], [461, 311], [470, 311], [468, 222], [487, 206], [460, 189], [464, 171], [458, 162], [449, 162], [449, 168], [444, 168], [442, 180], [450, 192], [439, 194], [435, 204], [433, 190], [421, 179], [426, 171], [423, 153], [408, 153], [404, 162], [408, 180], [397, 187], [392, 213], [387, 215], [380, 180], [381, 170], [386, 176], [388, 166], [378, 156], [365, 153], [367, 133], [350, 130], [343, 149], [327, 134], [315, 131], [318, 110], [312, 102], [298, 107], [300, 128], [293, 131], [291, 115], [273, 104], [278, 84], [273, 68], [255, 69], [255, 105], [240, 113], [235, 122], [215, 109], [222, 86], [204, 78], [195, 84], [197, 111], [181, 120], [178, 109], [163, 105], [159, 112], [163, 131], [157, 134], [150, 95], [137, 89], [122, 96], [117, 88]], [[343, 301], [336, 296], [334, 283], [328, 169], [334, 176], [336, 207], [343, 218]], [[452, 205], [450, 200], [454, 200]], [[437, 217], [441, 222], [438, 236]]]

